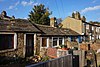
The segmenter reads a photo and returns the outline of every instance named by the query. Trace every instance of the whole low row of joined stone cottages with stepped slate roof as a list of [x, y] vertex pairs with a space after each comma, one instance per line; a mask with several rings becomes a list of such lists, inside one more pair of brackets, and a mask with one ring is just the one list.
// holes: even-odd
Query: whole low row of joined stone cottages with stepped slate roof
[[[41, 54], [43, 49], [64, 45], [73, 40], [70, 37], [78, 36], [71, 29], [32, 24], [24, 19], [1, 19], [0, 56], [24, 58]], [[77, 38], [76, 41], [79, 42]]]

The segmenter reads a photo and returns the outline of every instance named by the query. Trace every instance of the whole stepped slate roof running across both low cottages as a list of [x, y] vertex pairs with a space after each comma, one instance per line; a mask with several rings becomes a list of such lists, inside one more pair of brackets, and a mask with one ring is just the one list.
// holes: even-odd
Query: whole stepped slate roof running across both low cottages
[[71, 29], [56, 28], [47, 25], [32, 24], [25, 19], [14, 21], [0, 20], [0, 31], [2, 32], [39, 32], [42, 35], [80, 35]]

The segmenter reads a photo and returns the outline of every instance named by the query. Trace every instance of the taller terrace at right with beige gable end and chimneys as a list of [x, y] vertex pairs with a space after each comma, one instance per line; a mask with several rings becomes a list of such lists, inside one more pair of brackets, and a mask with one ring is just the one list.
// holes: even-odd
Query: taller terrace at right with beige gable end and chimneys
[[61, 22], [62, 28], [72, 29], [83, 35], [78, 37], [81, 41], [95, 41], [100, 39], [100, 24], [86, 22], [84, 16], [81, 17], [79, 12], [72, 13], [72, 17], [67, 17]]

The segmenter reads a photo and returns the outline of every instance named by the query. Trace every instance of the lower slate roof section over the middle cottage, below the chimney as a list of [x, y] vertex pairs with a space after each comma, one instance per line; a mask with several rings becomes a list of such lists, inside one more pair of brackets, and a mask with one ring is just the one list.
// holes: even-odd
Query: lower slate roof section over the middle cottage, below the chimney
[[42, 32], [42, 35], [61, 35], [61, 36], [80, 35], [71, 29], [56, 28], [56, 27], [51, 27], [46, 25], [39, 25], [39, 24], [36, 24], [36, 26]]

